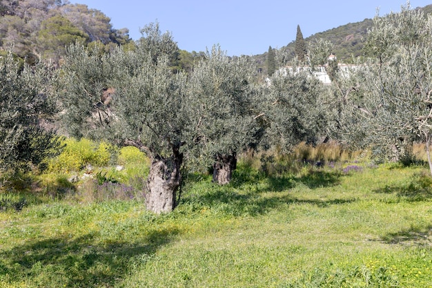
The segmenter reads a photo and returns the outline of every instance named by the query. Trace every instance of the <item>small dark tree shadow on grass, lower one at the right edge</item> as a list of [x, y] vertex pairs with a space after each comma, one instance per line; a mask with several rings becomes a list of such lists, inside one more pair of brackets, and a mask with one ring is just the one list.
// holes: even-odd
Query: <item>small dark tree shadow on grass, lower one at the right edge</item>
[[387, 244], [406, 244], [432, 247], [432, 225], [426, 227], [411, 227], [396, 233], [381, 237]]

